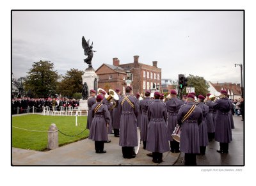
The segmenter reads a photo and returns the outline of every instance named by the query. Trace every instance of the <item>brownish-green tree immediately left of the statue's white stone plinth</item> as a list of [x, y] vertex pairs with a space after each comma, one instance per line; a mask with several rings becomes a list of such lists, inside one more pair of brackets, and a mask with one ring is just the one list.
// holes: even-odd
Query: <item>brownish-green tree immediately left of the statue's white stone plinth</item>
[[58, 83], [58, 93], [63, 96], [73, 97], [74, 93], [81, 93], [83, 88], [83, 71], [70, 69]]

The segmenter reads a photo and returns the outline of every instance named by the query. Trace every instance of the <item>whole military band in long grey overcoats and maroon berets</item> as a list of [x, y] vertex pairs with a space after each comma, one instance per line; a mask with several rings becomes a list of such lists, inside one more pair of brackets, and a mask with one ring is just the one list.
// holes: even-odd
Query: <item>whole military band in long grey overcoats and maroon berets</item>
[[[166, 99], [159, 92], [151, 98], [150, 91], [145, 91], [142, 100], [140, 93], [132, 95], [130, 86], [125, 88], [125, 95], [120, 95], [120, 89], [115, 91], [119, 99], [112, 101], [105, 98], [104, 90], [97, 96], [94, 90], [90, 91], [87, 128], [89, 139], [95, 141], [96, 153], [106, 153], [104, 143], [111, 142], [108, 141], [111, 132], [119, 137], [124, 159], [136, 157], [134, 147], [138, 146], [138, 141], [143, 142], [143, 149], [151, 152], [147, 155], [155, 163], [163, 161], [166, 151], [182, 151], [185, 165], [195, 166], [196, 155], [205, 155], [212, 139], [220, 142], [218, 153], [228, 153], [234, 128], [234, 104], [228, 99], [227, 91], [221, 91], [221, 96], [214, 101], [210, 99], [211, 94], [196, 98], [195, 93], [184, 95], [180, 100], [175, 90]], [[243, 98], [240, 102], [243, 113]], [[181, 127], [180, 143], [172, 137], [177, 126]], [[137, 128], [140, 128], [140, 139]]]

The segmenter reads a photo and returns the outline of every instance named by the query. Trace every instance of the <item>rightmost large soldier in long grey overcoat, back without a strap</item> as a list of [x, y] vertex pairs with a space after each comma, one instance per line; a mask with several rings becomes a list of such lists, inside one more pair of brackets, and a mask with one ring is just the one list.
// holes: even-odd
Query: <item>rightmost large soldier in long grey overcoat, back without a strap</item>
[[227, 91], [221, 90], [221, 95], [224, 96], [216, 100], [213, 105], [214, 109], [216, 109], [215, 141], [220, 142], [220, 150], [217, 150], [218, 153], [228, 153], [228, 143], [232, 141], [232, 130], [228, 113], [233, 108], [233, 105], [225, 97]]

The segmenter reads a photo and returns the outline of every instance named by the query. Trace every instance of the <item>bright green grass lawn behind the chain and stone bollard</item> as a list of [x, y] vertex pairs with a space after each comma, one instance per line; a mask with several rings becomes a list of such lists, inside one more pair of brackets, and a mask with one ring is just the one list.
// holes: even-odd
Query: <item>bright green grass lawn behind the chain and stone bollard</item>
[[[47, 131], [52, 123], [61, 130], [61, 132], [74, 136], [81, 133], [86, 128], [87, 116], [42, 116], [38, 114], [29, 114], [24, 116], [12, 117], [12, 147], [43, 151], [47, 149], [48, 133], [47, 132], [32, 132], [21, 130]], [[14, 128], [19, 127], [19, 128]], [[64, 144], [79, 141], [89, 136], [89, 130], [85, 130], [82, 134], [76, 137], [64, 136], [58, 132], [59, 146]]]

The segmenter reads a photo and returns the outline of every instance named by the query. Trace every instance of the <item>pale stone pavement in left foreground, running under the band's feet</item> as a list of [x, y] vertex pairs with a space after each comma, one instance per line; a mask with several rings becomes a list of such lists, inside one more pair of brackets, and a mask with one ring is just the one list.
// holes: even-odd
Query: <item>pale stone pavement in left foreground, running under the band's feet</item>
[[156, 164], [142, 148], [134, 159], [124, 159], [122, 148], [118, 145], [119, 137], [109, 134], [111, 143], [104, 144], [107, 153], [95, 153], [94, 141], [84, 139], [67, 144], [54, 150], [35, 151], [12, 148], [13, 166], [172, 166], [179, 159], [180, 153], [163, 153], [163, 162]]

